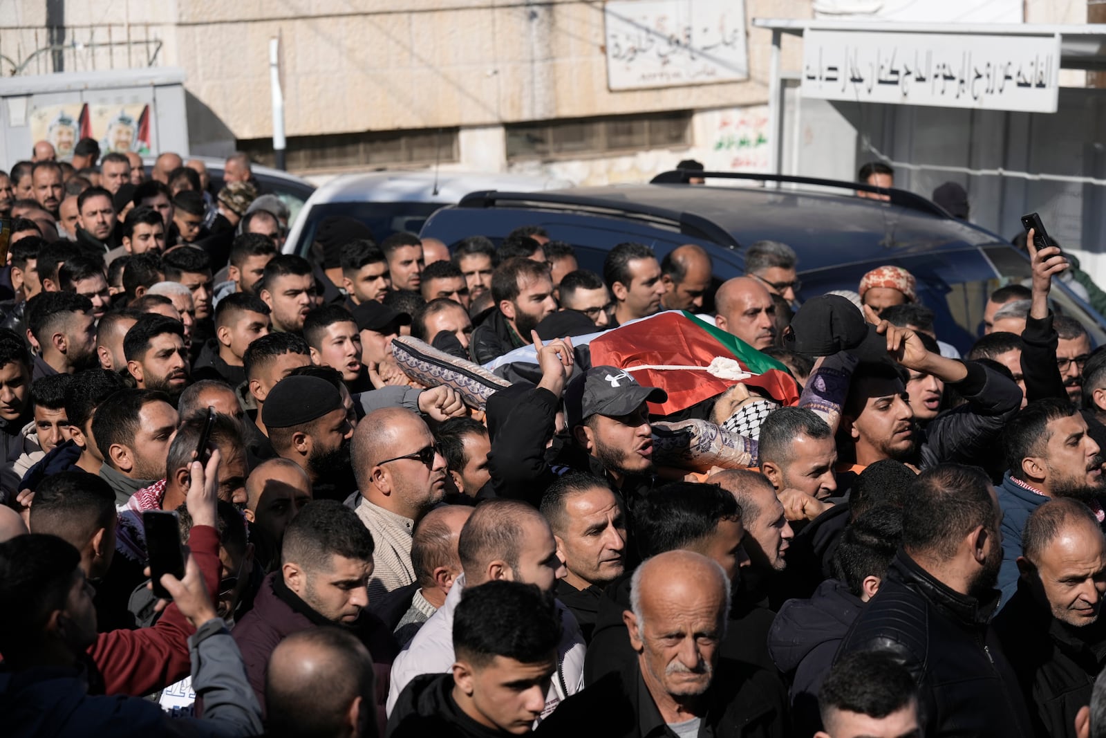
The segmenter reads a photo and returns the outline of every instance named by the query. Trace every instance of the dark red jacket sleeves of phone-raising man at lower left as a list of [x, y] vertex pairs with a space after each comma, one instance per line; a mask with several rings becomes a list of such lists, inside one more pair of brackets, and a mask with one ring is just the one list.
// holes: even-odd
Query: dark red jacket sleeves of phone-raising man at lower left
[[[192, 526], [188, 548], [208, 593], [218, 592], [222, 579], [218, 531]], [[177, 605], [170, 604], [153, 627], [101, 633], [87, 653], [103, 676], [104, 694], [142, 697], [188, 676], [192, 668], [188, 637], [195, 632]]]

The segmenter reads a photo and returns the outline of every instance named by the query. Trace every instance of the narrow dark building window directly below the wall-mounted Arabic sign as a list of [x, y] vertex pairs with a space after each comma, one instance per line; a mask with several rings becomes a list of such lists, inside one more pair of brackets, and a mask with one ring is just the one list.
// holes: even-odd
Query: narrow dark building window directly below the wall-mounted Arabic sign
[[691, 143], [691, 111], [511, 123], [503, 127], [509, 162], [585, 158], [686, 147]]

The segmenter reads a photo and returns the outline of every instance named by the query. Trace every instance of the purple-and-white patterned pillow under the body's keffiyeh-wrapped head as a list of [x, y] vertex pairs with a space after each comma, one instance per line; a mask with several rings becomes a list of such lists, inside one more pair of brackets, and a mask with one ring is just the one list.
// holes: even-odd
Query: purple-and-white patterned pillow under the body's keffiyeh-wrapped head
[[716, 466], [744, 469], [757, 464], [757, 441], [709, 420], [654, 423], [653, 460], [689, 471], [709, 471]]

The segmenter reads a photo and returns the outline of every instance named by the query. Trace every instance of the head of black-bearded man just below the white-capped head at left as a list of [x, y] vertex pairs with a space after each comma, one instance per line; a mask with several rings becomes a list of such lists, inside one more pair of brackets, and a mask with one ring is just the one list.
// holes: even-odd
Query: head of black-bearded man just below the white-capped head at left
[[123, 336], [123, 353], [139, 389], [164, 392], [176, 405], [191, 381], [180, 321], [153, 313], [143, 315]]

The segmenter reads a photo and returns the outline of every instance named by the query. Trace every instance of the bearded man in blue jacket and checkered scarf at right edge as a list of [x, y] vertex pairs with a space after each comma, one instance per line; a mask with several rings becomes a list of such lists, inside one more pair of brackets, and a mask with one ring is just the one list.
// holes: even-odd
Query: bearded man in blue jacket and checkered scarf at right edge
[[[1066, 399], [1039, 399], [1006, 425], [1003, 450], [1008, 471], [999, 487], [1002, 506], [1002, 601], [1018, 589], [1018, 558], [1030, 513], [1050, 498], [1070, 497], [1088, 505], [1102, 518], [1106, 495], [1098, 444], [1087, 424]], [[1100, 522], [1100, 521], [1099, 521]]]

